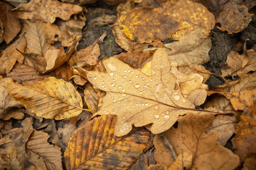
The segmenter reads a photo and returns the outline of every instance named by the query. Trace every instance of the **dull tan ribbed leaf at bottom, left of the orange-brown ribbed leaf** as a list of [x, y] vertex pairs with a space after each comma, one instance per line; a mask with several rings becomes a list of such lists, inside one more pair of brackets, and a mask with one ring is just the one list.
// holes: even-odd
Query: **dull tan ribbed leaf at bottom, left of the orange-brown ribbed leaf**
[[48, 138], [47, 133], [34, 130], [26, 143], [28, 155], [35, 153], [31, 154], [30, 157], [35, 157], [35, 155], [42, 157], [40, 166], [45, 165], [47, 169], [62, 169], [60, 148], [50, 145], [47, 142]]

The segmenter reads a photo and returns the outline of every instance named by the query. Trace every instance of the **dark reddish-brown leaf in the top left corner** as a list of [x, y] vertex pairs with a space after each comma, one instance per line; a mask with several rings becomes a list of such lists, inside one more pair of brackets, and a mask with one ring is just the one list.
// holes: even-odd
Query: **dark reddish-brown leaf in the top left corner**
[[10, 12], [12, 9], [13, 7], [10, 4], [4, 3], [3, 1], [0, 2], [1, 34], [7, 44], [17, 36], [21, 29], [19, 18]]

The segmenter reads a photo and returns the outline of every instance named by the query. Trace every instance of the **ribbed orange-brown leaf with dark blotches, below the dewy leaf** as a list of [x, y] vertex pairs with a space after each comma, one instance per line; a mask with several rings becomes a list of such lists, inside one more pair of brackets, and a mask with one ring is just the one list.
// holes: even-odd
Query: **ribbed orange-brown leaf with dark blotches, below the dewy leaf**
[[67, 169], [127, 169], [147, 147], [150, 133], [132, 132], [123, 138], [114, 135], [116, 118], [104, 115], [82, 123], [65, 150]]

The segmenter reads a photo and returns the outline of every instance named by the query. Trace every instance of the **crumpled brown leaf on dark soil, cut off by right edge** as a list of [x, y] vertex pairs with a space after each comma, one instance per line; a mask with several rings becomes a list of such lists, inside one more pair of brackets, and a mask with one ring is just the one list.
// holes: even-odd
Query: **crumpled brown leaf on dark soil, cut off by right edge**
[[256, 70], [256, 52], [253, 49], [246, 50], [240, 55], [235, 51], [228, 53], [227, 66], [221, 69], [223, 76], [241, 76]]

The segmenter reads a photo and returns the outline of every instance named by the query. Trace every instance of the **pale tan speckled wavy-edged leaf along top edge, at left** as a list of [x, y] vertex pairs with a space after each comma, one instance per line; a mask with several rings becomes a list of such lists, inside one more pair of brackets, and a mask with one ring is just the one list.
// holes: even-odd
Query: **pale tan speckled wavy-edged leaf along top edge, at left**
[[[63, 10], [65, 9], [65, 10]], [[58, 0], [31, 0], [29, 3], [20, 4], [12, 11], [20, 19], [44, 22], [55, 21], [56, 17], [69, 20], [70, 16], [83, 10], [81, 6], [68, 3], [60, 3]]]

